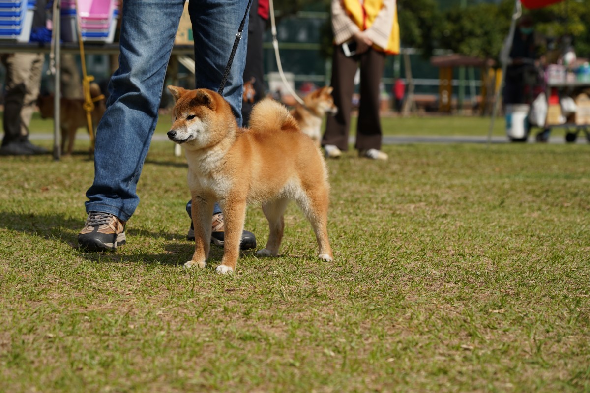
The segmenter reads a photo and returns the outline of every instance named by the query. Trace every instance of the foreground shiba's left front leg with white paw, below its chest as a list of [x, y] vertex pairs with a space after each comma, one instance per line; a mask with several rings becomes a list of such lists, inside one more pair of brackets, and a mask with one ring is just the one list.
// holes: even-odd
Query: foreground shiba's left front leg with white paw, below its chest
[[211, 246], [211, 217], [214, 203], [201, 196], [192, 197], [191, 216], [195, 227], [195, 253], [192, 259], [185, 263], [185, 268], [205, 267]]

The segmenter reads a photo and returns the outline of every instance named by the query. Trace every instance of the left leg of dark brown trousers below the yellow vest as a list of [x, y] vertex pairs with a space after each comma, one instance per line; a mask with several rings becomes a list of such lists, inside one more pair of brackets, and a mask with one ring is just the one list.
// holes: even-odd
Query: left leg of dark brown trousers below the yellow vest
[[339, 46], [334, 47], [332, 61], [332, 97], [338, 107], [335, 116], [326, 120], [326, 131], [322, 146], [333, 145], [342, 151], [348, 150], [350, 130], [350, 112], [352, 111], [352, 94], [355, 92], [355, 73], [358, 68], [357, 57], [346, 57]]

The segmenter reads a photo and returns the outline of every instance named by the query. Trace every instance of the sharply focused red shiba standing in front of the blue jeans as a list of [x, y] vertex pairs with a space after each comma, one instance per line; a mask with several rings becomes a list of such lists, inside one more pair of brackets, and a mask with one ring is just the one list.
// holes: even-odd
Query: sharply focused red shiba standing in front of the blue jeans
[[211, 90], [169, 86], [175, 98], [168, 138], [185, 147], [192, 196], [195, 253], [185, 267], [205, 267], [213, 205], [224, 213], [225, 244], [218, 273], [231, 273], [240, 252], [247, 203], [262, 203], [270, 234], [258, 256], [277, 256], [283, 213], [294, 200], [312, 224], [319, 258], [333, 260], [327, 235], [329, 185], [320, 150], [273, 100], [254, 106], [250, 128], [239, 128], [230, 105]]

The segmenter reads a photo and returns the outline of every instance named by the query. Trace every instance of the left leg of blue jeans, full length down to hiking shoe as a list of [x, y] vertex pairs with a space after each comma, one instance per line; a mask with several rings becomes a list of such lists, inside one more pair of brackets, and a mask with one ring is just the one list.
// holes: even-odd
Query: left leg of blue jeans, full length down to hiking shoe
[[139, 203], [137, 181], [158, 123], [166, 67], [184, 0], [123, 2], [119, 69], [96, 131], [94, 183], [86, 212], [128, 220]]

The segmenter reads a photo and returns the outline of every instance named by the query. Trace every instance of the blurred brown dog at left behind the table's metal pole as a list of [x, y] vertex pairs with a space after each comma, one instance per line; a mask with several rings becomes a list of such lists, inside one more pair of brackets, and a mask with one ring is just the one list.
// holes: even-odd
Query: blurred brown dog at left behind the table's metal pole
[[[90, 84], [90, 96], [94, 99], [94, 110], [91, 112], [93, 130], [96, 132], [100, 119], [103, 117], [106, 110], [104, 96], [100, 92], [100, 87], [97, 83]], [[102, 96], [102, 97], [101, 97]], [[37, 105], [41, 118], [53, 118], [54, 98], [53, 94], [40, 95], [37, 98]], [[74, 148], [74, 139], [76, 138], [76, 131], [78, 128], [88, 128], [86, 120], [86, 110], [84, 110], [84, 100], [61, 98], [60, 101], [60, 121], [61, 121], [61, 151], [65, 154], [71, 154]], [[67, 150], [65, 142], [68, 143]], [[94, 153], [94, 146], [90, 146], [90, 153]]]

